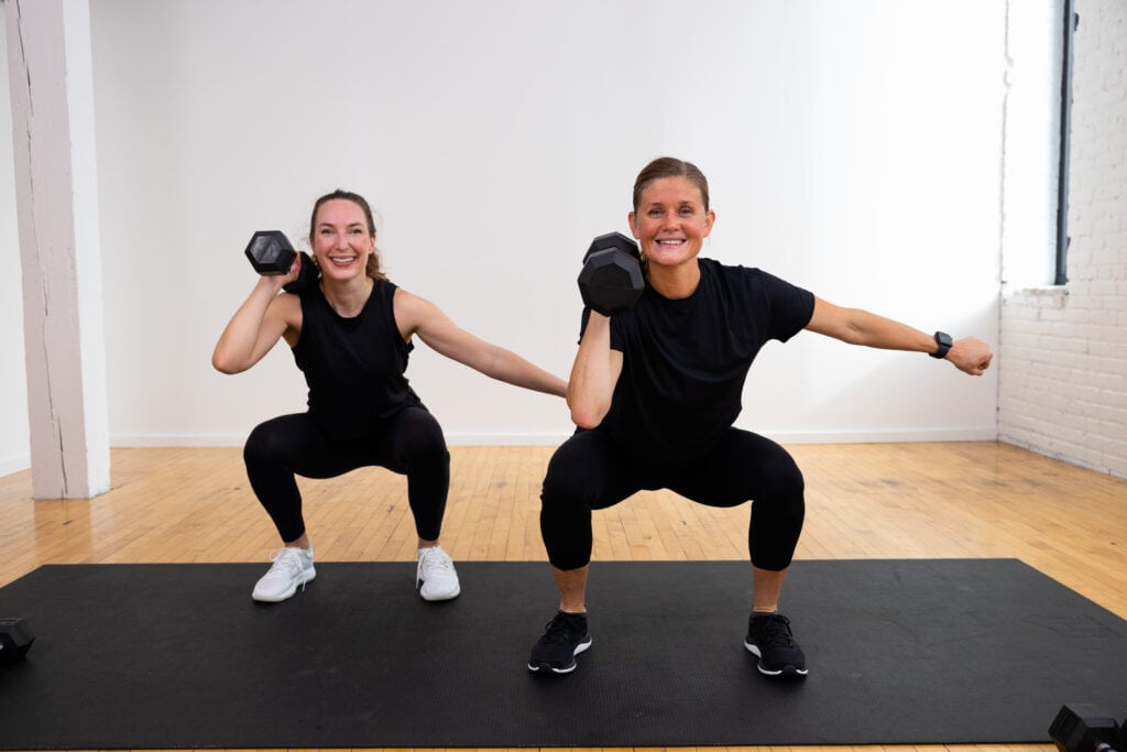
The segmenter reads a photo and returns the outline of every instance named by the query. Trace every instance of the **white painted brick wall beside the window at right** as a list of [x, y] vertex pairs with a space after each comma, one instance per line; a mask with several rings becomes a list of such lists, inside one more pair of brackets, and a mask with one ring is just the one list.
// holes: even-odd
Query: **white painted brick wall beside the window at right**
[[1127, 478], [1127, 2], [1075, 9], [1068, 283], [1003, 297], [999, 437]]

